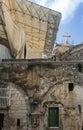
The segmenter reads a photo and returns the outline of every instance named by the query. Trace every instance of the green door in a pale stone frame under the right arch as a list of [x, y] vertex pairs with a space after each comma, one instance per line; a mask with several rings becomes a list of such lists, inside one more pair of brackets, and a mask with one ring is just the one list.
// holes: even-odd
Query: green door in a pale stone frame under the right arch
[[59, 127], [59, 108], [48, 108], [48, 127]]

